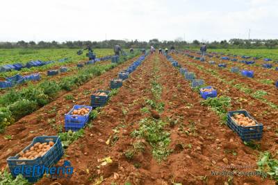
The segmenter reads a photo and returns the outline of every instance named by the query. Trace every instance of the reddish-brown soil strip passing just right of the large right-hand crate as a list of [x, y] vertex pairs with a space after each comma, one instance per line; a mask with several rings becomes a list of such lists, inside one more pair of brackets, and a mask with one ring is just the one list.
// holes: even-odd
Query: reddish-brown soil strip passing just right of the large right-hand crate
[[210, 76], [208, 73], [204, 73], [204, 71], [197, 69], [197, 67], [189, 64], [187, 58], [178, 61], [183, 67], [188, 68], [188, 71], [194, 72], [198, 78], [204, 79], [206, 85], [211, 85], [217, 89], [218, 96], [231, 97], [232, 102], [231, 108], [229, 110], [246, 109], [256, 118], [257, 121], [259, 121], [259, 123], [263, 123], [263, 138], [260, 142], [261, 150], [277, 150], [278, 140], [275, 134], [275, 128], [277, 128], [278, 123], [278, 112], [276, 110], [271, 109], [268, 107], [268, 105], [265, 105], [265, 103], [262, 103], [260, 100], [238, 91], [238, 89], [232, 85], [227, 85], [224, 82], [221, 82], [218, 78]]

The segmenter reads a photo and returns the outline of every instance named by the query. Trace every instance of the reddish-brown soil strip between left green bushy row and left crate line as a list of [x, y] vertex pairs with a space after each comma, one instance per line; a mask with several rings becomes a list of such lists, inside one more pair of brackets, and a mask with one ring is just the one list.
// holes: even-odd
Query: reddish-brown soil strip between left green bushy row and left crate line
[[[8, 126], [6, 132], [0, 134], [0, 168], [3, 169], [6, 167], [6, 159], [25, 148], [35, 136], [56, 135], [58, 132], [57, 128], [64, 127], [64, 114], [69, 112], [73, 105], [90, 105], [90, 94], [92, 91], [106, 89], [106, 84], [134, 60], [136, 59], [134, 58], [124, 62], [124, 64], [120, 64], [73, 91], [60, 94], [54, 102], [45, 105], [38, 109], [38, 111]], [[72, 100], [65, 100], [65, 96], [68, 94], [74, 96], [74, 102]], [[12, 136], [11, 140], [4, 139], [4, 136], [8, 134]]]

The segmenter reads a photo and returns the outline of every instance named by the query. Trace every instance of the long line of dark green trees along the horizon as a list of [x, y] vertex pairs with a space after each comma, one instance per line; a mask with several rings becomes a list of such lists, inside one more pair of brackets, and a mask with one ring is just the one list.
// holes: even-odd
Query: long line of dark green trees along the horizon
[[[182, 39], [176, 39], [174, 41], [159, 41], [158, 39], [150, 39], [149, 42], [138, 41], [136, 40], [105, 40], [105, 41], [67, 41], [67, 42], [25, 42], [23, 40], [19, 42], [0, 42], [0, 49], [60, 49], [60, 48], [68, 48], [68, 49], [82, 49], [85, 46], [91, 46], [93, 49], [107, 49], [113, 48], [115, 44], [120, 44], [122, 48], [149, 48], [150, 46], [154, 46], [156, 49], [158, 48], [170, 48], [174, 46], [176, 49], [186, 49], [199, 47], [203, 42], [198, 41], [197, 39], [193, 40], [193, 42], [186, 42]], [[220, 42], [204, 42], [206, 43], [208, 49], [223, 49], [223, 48], [235, 48], [235, 49], [276, 49], [278, 48], [278, 39], [229, 39], [222, 40]]]

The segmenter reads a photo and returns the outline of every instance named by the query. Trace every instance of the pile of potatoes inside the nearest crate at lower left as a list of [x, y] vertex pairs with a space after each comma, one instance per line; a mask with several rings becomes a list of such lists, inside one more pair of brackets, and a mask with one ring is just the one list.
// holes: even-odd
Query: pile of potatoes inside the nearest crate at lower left
[[25, 150], [25, 152], [19, 152], [20, 160], [33, 160], [37, 157], [42, 157], [47, 153], [50, 148], [54, 146], [53, 141], [49, 141], [49, 143], [35, 143], [29, 150]]

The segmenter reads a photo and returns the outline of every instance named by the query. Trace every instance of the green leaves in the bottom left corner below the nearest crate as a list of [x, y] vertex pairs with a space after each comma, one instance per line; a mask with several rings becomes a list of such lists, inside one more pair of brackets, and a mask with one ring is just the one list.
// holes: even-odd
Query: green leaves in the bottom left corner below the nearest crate
[[0, 171], [0, 184], [1, 185], [29, 185], [27, 179], [24, 179], [24, 177], [19, 174], [15, 179], [13, 179], [13, 176], [8, 173], [6, 170], [3, 172]]

